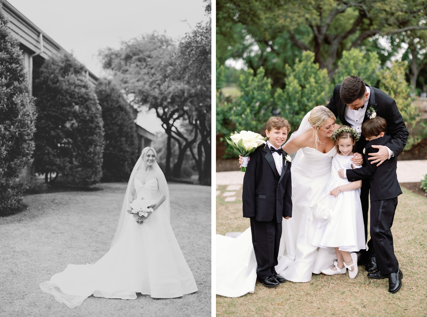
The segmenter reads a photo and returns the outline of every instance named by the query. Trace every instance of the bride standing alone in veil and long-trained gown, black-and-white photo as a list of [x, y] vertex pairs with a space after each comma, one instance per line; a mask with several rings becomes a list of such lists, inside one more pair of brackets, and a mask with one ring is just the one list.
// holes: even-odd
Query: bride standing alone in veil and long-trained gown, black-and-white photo
[[[110, 250], [95, 264], [68, 264], [40, 288], [69, 308], [96, 297], [135, 299], [136, 293], [174, 298], [197, 291], [170, 226], [169, 189], [152, 147], [143, 149], [129, 178]], [[154, 210], [138, 220], [127, 212], [134, 199]]]

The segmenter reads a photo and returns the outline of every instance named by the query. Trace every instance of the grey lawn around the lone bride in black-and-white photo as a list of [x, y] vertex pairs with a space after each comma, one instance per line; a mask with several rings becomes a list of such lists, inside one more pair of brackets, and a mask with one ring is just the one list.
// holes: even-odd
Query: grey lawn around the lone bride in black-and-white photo
[[[39, 288], [67, 264], [95, 263], [110, 248], [125, 183], [102, 191], [28, 195], [26, 211], [0, 217], [0, 316], [211, 316], [211, 187], [169, 184], [171, 225], [199, 289], [175, 299], [90, 296], [76, 308]], [[131, 264], [129, 264], [131, 265]], [[169, 272], [164, 272], [169, 274]]]

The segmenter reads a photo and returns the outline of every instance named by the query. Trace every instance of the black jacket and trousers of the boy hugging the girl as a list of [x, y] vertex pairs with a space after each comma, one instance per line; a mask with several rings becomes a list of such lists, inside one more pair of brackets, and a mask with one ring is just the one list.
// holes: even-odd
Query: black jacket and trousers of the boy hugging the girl
[[[366, 144], [365, 158], [369, 153], [376, 153], [378, 149], [372, 145], [385, 145], [391, 140], [389, 135], [369, 141]], [[398, 182], [397, 158], [392, 157], [377, 167], [377, 164], [366, 164], [362, 168], [346, 170], [347, 179], [354, 182], [360, 179], [369, 179], [371, 183], [371, 239], [377, 257], [377, 266], [381, 274], [388, 275], [397, 272], [398, 260], [393, 248], [393, 236], [390, 230], [395, 217], [398, 196], [402, 194]]]

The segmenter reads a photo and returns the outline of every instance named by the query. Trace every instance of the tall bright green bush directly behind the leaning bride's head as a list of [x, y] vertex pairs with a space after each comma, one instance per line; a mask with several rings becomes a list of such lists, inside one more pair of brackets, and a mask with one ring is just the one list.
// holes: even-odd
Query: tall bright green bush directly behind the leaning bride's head
[[277, 89], [275, 103], [285, 117], [291, 130], [298, 129], [304, 115], [314, 106], [325, 105], [328, 99], [329, 78], [325, 69], [313, 63], [314, 53], [306, 51], [301, 61], [296, 59], [294, 66], [286, 66], [286, 87]]

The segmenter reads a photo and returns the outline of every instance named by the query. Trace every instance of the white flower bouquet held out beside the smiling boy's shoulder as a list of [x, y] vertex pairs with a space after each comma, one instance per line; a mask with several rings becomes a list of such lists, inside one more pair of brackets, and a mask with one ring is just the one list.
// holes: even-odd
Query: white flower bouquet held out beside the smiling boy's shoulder
[[234, 151], [242, 156], [243, 164], [240, 171], [246, 172], [249, 155], [251, 155], [251, 153], [253, 153], [261, 144], [266, 144], [266, 140], [268, 138], [263, 138], [262, 135], [256, 132], [242, 130], [240, 133], [237, 133], [236, 131], [234, 131], [234, 134], [231, 133], [230, 139], [231, 141], [228, 140], [228, 138], [225, 138]]

